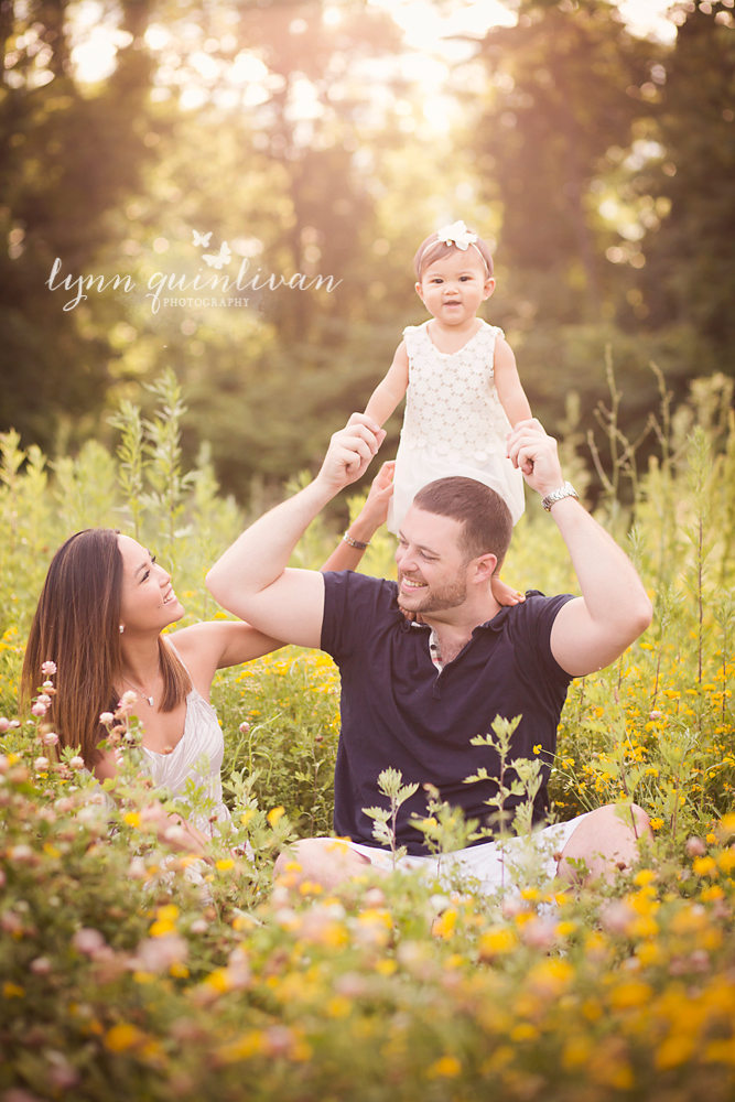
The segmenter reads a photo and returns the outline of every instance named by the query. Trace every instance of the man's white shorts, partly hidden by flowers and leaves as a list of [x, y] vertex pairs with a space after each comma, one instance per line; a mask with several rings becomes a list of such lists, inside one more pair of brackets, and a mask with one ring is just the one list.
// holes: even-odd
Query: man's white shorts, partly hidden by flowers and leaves
[[[479, 880], [479, 890], [488, 894], [502, 887], [512, 889], [527, 875], [536, 878], [540, 874], [542, 878], [552, 880], [556, 875], [559, 854], [586, 818], [586, 814], [577, 815], [569, 822], [554, 823], [553, 827], [544, 827], [532, 834], [510, 838], [502, 845], [498, 842], [483, 842], [466, 850], [442, 854], [441, 857], [401, 857], [396, 863], [396, 868], [404, 872], [420, 869], [439, 879], [458, 872]], [[344, 840], [344, 844], [361, 853], [378, 868], [392, 872], [393, 858], [388, 850], [347, 840]]]

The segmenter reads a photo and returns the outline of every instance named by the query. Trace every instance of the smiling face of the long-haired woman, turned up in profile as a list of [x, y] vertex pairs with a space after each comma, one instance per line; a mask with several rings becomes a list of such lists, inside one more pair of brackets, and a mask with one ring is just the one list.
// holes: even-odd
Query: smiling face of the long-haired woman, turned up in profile
[[150, 551], [130, 539], [118, 537], [122, 555], [122, 591], [120, 593], [120, 623], [126, 635], [161, 631], [184, 615], [171, 585], [171, 575], [159, 566]]

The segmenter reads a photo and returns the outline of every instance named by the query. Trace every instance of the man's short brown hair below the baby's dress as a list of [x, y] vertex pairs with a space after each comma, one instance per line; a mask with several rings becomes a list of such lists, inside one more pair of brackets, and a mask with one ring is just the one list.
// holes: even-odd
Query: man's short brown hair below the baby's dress
[[458, 520], [464, 530], [460, 548], [467, 562], [494, 554], [501, 565], [510, 545], [512, 518], [499, 494], [476, 478], [437, 478], [413, 498], [417, 509]]

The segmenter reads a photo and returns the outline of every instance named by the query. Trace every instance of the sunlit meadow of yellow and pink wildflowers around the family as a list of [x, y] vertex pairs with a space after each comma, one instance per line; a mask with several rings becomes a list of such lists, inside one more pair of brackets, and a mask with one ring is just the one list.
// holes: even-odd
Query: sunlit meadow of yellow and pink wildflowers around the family
[[[0, 437], [0, 1099], [733, 1099], [728, 382], [698, 381], [677, 411], [662, 392], [645, 472], [615, 402], [602, 414], [612, 467], [598, 518], [639, 566], [656, 619], [572, 687], [551, 789], [562, 819], [635, 800], [655, 842], [594, 890], [549, 883], [529, 861], [506, 899], [398, 874], [332, 896], [295, 869], [271, 886], [289, 838], [331, 829], [338, 677], [320, 653], [289, 648], [218, 677], [233, 825], [213, 865], [156, 842], [134, 738], [111, 812], [72, 752], [53, 759], [42, 720], [17, 716], [46, 563], [80, 527], [139, 533], [191, 618], [221, 615], [204, 572], [247, 518], [217, 496], [206, 452], [182, 471], [181, 396], [171, 378], [159, 392], [151, 422], [122, 408], [117, 455], [93, 443], [50, 465]], [[584, 486], [573, 413], [562, 453]], [[318, 565], [333, 538], [315, 525], [296, 561]], [[363, 569], [387, 574], [390, 554], [379, 538]], [[575, 592], [537, 503], [504, 576]], [[439, 810], [446, 836], [448, 818]], [[251, 856], [233, 857], [246, 840]]]

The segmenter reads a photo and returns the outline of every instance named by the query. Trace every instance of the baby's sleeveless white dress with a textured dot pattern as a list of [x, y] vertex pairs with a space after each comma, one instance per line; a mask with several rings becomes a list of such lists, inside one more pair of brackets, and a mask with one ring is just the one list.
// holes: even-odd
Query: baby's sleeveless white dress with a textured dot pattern
[[523, 476], [506, 456], [510, 422], [495, 386], [495, 341], [482, 322], [455, 353], [442, 353], [423, 325], [407, 325], [409, 387], [396, 456], [388, 529], [398, 532], [413, 498], [436, 478], [476, 478], [504, 499], [514, 525], [523, 512]]

